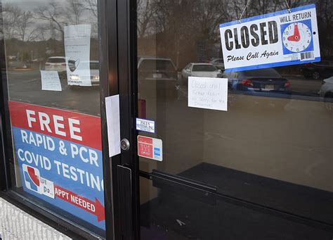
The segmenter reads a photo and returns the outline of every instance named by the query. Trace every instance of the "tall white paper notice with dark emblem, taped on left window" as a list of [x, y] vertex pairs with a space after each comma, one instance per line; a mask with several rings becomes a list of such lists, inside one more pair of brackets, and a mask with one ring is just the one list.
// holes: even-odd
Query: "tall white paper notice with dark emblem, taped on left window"
[[90, 37], [91, 25], [64, 27], [68, 85], [91, 86]]

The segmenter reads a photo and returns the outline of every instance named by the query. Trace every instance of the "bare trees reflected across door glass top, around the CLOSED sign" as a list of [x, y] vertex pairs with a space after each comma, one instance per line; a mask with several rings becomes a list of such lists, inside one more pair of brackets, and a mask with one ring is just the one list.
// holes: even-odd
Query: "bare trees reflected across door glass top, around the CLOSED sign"
[[[138, 54], [169, 56], [181, 68], [190, 61], [221, 57], [221, 46], [216, 48], [220, 23], [239, 19], [243, 11], [242, 18], [249, 18], [311, 3], [317, 7], [320, 32], [332, 32], [332, 0], [248, 1], [138, 0]], [[320, 34], [322, 56], [332, 56], [332, 45], [332, 34]]]

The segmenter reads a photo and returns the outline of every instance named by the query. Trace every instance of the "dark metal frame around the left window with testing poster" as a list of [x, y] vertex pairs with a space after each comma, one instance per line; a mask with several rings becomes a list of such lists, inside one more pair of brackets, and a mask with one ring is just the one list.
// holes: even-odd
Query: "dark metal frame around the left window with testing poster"
[[[126, 1], [125, 1], [126, 2]], [[102, 130], [102, 150], [103, 150], [103, 177], [105, 196], [105, 227], [107, 239], [119, 239], [119, 208], [117, 201], [117, 175], [113, 174], [112, 166], [122, 164], [120, 156], [112, 159], [108, 156], [107, 145], [107, 125], [105, 113], [105, 97], [119, 94], [119, 61], [118, 61], [118, 29], [124, 27], [124, 23], [119, 23], [119, 16], [124, 11], [117, 4], [122, 1], [98, 0], [98, 37], [100, 38], [100, 119]], [[2, 9], [0, 4], [0, 20], [2, 19]], [[0, 32], [2, 21], [0, 22]], [[35, 203], [22, 198], [20, 194], [11, 190], [15, 176], [9, 175], [10, 168], [13, 168], [13, 144], [11, 139], [11, 121], [8, 113], [8, 88], [6, 77], [6, 56], [4, 39], [0, 36], [0, 196], [13, 205], [21, 208], [25, 212], [33, 215], [47, 225], [63, 232], [72, 239], [100, 239], [100, 236], [93, 232], [86, 231], [82, 227], [68, 222], [63, 217], [49, 213], [48, 209], [37, 206]], [[122, 66], [124, 67], [124, 66]], [[122, 85], [122, 84], [121, 84]], [[123, 85], [122, 85], [123, 86]], [[122, 101], [121, 105], [124, 104]], [[123, 113], [122, 113], [123, 115]], [[122, 126], [122, 131], [124, 125]], [[119, 183], [121, 184], [121, 183]]]

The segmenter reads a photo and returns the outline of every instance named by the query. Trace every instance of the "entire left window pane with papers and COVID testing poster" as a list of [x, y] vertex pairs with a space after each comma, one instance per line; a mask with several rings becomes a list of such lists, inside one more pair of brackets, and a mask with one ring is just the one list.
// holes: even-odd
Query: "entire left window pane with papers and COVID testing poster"
[[1, 4], [13, 189], [105, 236], [98, 1]]

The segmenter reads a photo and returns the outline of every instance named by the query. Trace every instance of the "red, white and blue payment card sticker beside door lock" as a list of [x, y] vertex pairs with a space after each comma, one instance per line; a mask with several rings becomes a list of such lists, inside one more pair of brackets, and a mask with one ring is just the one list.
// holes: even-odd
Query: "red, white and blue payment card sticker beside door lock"
[[138, 156], [162, 162], [162, 140], [138, 135]]

